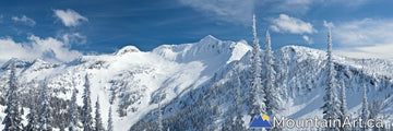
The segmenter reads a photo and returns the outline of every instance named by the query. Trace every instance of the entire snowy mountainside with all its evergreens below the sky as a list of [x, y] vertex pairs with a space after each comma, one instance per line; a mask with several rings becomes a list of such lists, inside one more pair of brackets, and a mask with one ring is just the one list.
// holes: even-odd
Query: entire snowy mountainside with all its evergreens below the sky
[[0, 69], [0, 128], [240, 131], [267, 115], [383, 119], [381, 130], [391, 130], [392, 61], [334, 55], [330, 28], [326, 51], [273, 51], [269, 31], [262, 44], [258, 31], [253, 19], [252, 45], [209, 35], [193, 44], [145, 52], [127, 46], [63, 63], [11, 59]]

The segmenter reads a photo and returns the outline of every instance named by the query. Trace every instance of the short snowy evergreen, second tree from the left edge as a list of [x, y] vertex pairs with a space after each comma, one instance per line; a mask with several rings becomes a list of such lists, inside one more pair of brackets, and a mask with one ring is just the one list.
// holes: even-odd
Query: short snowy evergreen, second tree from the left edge
[[35, 95], [35, 93], [33, 93], [32, 90], [28, 93], [32, 94], [33, 97], [32, 97], [32, 102], [28, 106], [29, 112], [26, 116], [28, 123], [24, 130], [25, 131], [37, 131], [39, 129], [39, 127], [38, 127], [38, 116], [37, 116], [37, 110], [36, 110], [36, 95]]

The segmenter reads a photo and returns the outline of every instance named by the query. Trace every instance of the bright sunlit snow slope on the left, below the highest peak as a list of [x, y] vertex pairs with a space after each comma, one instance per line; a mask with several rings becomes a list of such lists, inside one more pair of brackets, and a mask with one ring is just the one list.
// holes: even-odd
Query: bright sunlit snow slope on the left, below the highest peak
[[[165, 93], [163, 100], [171, 102], [189, 88], [205, 83], [216, 69], [239, 60], [248, 50], [250, 47], [245, 41], [222, 41], [206, 36], [195, 44], [163, 45], [151, 52], [127, 46], [114, 55], [84, 56], [61, 64], [13, 59], [2, 67], [1, 85], [7, 84], [9, 64], [17, 61], [20, 82], [23, 83], [21, 91], [27, 93], [29, 84], [48, 76], [52, 97], [70, 99], [75, 86], [81, 106], [84, 75], [88, 74], [92, 104], [99, 95], [106, 121], [109, 102], [114, 99], [112, 108], [118, 111], [114, 116], [114, 127], [121, 131], [157, 107], [157, 94]], [[1, 92], [3, 97], [5, 91]]]

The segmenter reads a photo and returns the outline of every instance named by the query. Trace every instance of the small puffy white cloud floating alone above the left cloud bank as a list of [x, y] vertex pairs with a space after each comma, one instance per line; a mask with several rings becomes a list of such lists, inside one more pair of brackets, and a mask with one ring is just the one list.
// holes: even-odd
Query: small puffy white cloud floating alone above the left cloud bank
[[69, 26], [69, 27], [78, 26], [81, 24], [81, 22], [88, 21], [86, 17], [82, 16], [81, 14], [79, 14], [78, 12], [75, 12], [71, 9], [53, 10], [53, 12], [55, 12], [55, 15], [57, 17], [59, 17], [66, 26]]

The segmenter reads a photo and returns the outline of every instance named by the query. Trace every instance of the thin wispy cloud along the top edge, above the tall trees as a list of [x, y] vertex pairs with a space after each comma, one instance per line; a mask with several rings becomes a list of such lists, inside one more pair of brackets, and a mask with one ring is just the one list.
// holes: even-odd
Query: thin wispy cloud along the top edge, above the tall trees
[[[251, 25], [252, 14], [270, 15], [277, 13], [306, 14], [313, 7], [344, 5], [356, 8], [370, 0], [178, 0], [209, 16], [218, 20]], [[255, 11], [257, 9], [258, 11]], [[255, 12], [254, 12], [255, 11]], [[261, 13], [261, 14], [259, 14]]]

